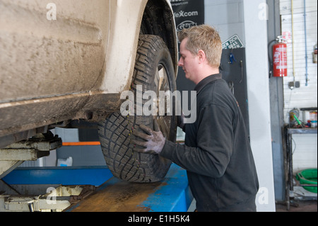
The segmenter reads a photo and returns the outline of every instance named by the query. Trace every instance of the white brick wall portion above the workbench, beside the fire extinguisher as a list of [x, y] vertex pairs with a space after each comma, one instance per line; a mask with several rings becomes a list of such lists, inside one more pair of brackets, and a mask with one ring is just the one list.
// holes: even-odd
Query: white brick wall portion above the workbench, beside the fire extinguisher
[[[288, 123], [288, 112], [293, 108], [317, 107], [317, 64], [312, 62], [312, 52], [317, 44], [317, 1], [305, 0], [307, 23], [307, 53], [305, 50], [305, 16], [304, 0], [294, 0], [294, 69], [292, 40], [291, 0], [281, 0], [281, 28], [288, 38], [288, 77], [284, 77], [285, 123]], [[306, 61], [308, 84], [306, 86]], [[300, 81], [300, 88], [289, 89], [288, 82]], [[300, 115], [300, 118], [302, 115]]]

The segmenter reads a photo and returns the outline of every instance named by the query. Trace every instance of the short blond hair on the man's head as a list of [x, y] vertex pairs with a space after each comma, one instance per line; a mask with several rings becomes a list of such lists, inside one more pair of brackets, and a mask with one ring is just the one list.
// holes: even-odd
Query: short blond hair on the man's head
[[203, 50], [208, 64], [211, 67], [220, 67], [222, 42], [216, 29], [208, 25], [194, 26], [179, 31], [178, 38], [180, 42], [188, 38], [187, 50], [193, 55], [197, 55], [199, 50]]

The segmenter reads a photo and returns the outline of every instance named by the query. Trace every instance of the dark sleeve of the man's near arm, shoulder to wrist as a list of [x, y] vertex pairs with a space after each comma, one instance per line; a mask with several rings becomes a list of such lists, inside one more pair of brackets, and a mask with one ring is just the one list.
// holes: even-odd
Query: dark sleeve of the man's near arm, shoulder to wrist
[[197, 118], [197, 147], [165, 142], [161, 156], [188, 171], [219, 178], [230, 162], [233, 144], [232, 114], [227, 108], [210, 105]]

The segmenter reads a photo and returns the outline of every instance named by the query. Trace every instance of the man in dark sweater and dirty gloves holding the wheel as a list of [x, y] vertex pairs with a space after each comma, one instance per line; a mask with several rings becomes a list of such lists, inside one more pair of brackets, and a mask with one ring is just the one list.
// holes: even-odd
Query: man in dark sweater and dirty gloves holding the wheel
[[196, 122], [178, 125], [186, 133], [184, 145], [165, 140], [141, 125], [131, 140], [138, 152], [160, 154], [187, 170], [196, 210], [254, 212], [259, 189], [257, 171], [240, 107], [219, 72], [222, 43], [218, 32], [202, 25], [178, 33], [179, 67], [196, 84]]

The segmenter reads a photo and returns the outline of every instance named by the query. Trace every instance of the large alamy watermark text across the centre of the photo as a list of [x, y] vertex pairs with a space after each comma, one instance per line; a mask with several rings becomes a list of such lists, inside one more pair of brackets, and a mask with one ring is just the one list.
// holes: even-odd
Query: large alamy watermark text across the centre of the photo
[[[120, 113], [127, 115], [144, 116], [172, 116], [184, 115], [184, 123], [194, 123], [196, 121], [196, 91], [191, 91], [191, 108], [189, 108], [189, 91], [159, 91], [159, 96], [155, 91], [144, 91], [143, 86], [136, 86], [136, 96], [134, 91], [122, 92], [120, 99], [126, 100], [120, 107]], [[175, 101], [173, 101], [175, 98]], [[136, 108], [135, 108], [136, 106]]]

